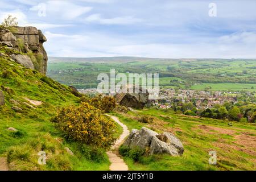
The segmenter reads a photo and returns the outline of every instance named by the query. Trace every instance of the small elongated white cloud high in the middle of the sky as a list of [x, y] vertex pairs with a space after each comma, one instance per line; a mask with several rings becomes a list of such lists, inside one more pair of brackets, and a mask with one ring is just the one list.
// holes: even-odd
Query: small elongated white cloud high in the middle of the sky
[[86, 22], [95, 22], [100, 24], [134, 24], [142, 22], [142, 19], [134, 18], [133, 16], [122, 16], [115, 18], [101, 18], [101, 14], [92, 14], [88, 16]]

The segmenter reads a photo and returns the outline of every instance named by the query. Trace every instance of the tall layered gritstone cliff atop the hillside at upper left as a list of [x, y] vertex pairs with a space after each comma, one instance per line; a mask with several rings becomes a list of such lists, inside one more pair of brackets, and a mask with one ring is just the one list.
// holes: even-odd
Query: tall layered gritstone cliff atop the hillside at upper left
[[[34, 66], [31, 66], [32, 60], [30, 57], [24, 57], [20, 55], [13, 55], [13, 57], [17, 57], [18, 59], [14, 59], [18, 63], [24, 65], [30, 69], [38, 69], [41, 73], [46, 73], [47, 71], [47, 53], [43, 47], [43, 43], [47, 41], [46, 37], [43, 35], [42, 31], [38, 30], [35, 27], [15, 27], [15, 33], [11, 33], [9, 30], [5, 28], [0, 28], [0, 44], [6, 45], [7, 47], [15, 50], [19, 50], [19, 39], [23, 40], [24, 53], [32, 51], [35, 53], [38, 59], [34, 60]], [[19, 61], [18, 61], [19, 60]], [[24, 61], [23, 61], [24, 60]], [[30, 61], [29, 61], [30, 60]], [[28, 63], [29, 62], [29, 63]], [[36, 65], [35, 65], [36, 64]]]

